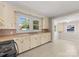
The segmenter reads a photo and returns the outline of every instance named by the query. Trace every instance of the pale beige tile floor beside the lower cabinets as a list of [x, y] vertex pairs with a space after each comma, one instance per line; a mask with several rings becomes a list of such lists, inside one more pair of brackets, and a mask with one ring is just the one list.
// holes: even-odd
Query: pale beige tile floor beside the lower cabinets
[[79, 56], [78, 42], [57, 40], [22, 53], [18, 57], [76, 57]]

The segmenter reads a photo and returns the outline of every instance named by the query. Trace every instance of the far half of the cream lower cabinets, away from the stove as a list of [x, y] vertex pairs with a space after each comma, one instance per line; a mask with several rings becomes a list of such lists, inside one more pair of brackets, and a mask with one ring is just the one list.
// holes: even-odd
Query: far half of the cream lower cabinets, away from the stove
[[41, 33], [37, 35], [31, 36], [31, 48], [44, 44], [46, 42], [51, 41], [51, 34], [50, 33]]

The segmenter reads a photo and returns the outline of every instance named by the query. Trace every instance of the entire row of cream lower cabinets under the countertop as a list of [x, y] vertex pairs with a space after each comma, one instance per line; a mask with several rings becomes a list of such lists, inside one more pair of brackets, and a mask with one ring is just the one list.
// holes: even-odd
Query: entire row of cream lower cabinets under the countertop
[[39, 33], [34, 35], [29, 34], [17, 36], [16, 38], [14, 38], [14, 40], [18, 45], [19, 53], [22, 53], [48, 41], [51, 41], [51, 35], [50, 33]]

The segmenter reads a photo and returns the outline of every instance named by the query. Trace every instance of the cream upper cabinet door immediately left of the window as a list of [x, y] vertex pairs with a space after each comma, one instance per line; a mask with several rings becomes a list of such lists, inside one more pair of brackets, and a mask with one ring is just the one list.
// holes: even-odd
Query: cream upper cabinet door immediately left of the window
[[12, 6], [5, 4], [3, 18], [6, 24], [6, 29], [15, 29], [15, 12]]

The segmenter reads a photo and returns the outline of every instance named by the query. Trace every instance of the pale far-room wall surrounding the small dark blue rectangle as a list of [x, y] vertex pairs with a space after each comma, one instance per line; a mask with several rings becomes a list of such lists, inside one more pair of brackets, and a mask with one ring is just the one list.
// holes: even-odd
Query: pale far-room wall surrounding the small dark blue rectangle
[[[74, 25], [75, 31], [74, 32], [67, 32], [67, 26]], [[64, 31], [59, 33], [59, 39], [65, 40], [79, 40], [79, 21], [64, 23]]]

